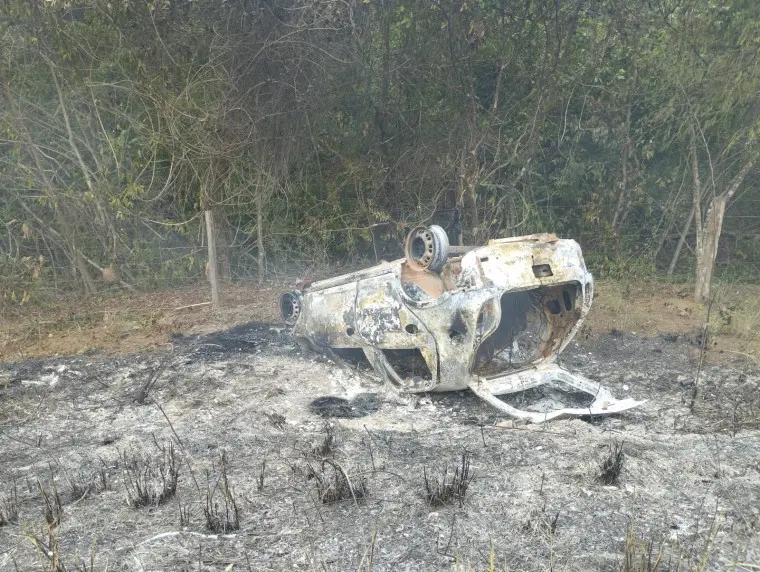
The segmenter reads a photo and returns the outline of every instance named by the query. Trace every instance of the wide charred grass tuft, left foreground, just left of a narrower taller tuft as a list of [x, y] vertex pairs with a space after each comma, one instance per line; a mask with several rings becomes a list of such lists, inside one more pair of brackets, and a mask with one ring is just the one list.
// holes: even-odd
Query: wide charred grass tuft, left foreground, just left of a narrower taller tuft
[[177, 492], [182, 462], [174, 449], [174, 442], [157, 446], [161, 451], [157, 459], [136, 451], [121, 453], [127, 503], [133, 508], [158, 506]]

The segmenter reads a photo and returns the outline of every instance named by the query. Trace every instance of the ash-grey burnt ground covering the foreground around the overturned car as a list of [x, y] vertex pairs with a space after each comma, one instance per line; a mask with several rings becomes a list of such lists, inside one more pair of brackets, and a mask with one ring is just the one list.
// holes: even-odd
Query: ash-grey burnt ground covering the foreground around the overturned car
[[[612, 571], [627, 537], [661, 550], [671, 570], [679, 559], [681, 570], [760, 564], [751, 359], [703, 365], [690, 412], [694, 340], [591, 335], [561, 362], [649, 401], [614, 417], [515, 425], [468, 392], [397, 395], [266, 324], [172, 341], [154, 353], [0, 364], [0, 494], [15, 488], [19, 510], [0, 526], [0, 571], [54, 569], [57, 557], [73, 570], [76, 555], [88, 570], [94, 556], [95, 570]], [[133, 508], [123, 455], [155, 469], [170, 441], [176, 495]], [[603, 484], [614, 444], [622, 471]], [[465, 451], [464, 502], [429, 506], [424, 475], [448, 467], [451, 478]], [[224, 512], [223, 453], [239, 528], [214, 532], [204, 508], [210, 488]], [[347, 498], [323, 503], [320, 479], [343, 471]], [[148, 488], [159, 479], [148, 475]], [[62, 510], [48, 511], [60, 522], [46, 555], [35, 538], [50, 548], [41, 490], [53, 498], [53, 485]]]

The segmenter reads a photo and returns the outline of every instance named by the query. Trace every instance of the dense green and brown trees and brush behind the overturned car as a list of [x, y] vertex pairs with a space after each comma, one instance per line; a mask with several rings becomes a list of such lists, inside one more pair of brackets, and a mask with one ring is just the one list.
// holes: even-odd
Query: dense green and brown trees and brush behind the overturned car
[[555, 232], [760, 275], [755, 0], [3, 0], [0, 300]]

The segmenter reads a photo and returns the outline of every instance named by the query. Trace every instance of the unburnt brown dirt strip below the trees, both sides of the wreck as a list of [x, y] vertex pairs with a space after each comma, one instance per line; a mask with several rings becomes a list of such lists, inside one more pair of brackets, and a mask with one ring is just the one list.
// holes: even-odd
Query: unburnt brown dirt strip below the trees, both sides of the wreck
[[[0, 314], [0, 361], [167, 349], [175, 333], [205, 334], [250, 321], [275, 323], [279, 295], [290, 288], [286, 283], [228, 285], [218, 311], [212, 310], [205, 285], [17, 308]], [[708, 360], [737, 355], [760, 360], [758, 298], [760, 285], [718, 287], [710, 312]], [[692, 300], [689, 285], [607, 281], [596, 286], [585, 331], [695, 336], [706, 317], [707, 308]]]

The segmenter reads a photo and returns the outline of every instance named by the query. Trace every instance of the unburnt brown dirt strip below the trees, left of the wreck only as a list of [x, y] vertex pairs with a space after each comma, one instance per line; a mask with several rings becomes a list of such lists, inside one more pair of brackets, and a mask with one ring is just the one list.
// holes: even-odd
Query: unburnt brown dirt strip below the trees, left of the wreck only
[[222, 309], [192, 307], [209, 300], [206, 283], [193, 287], [102, 295], [57, 297], [0, 314], [0, 361], [50, 355], [74, 355], [87, 350], [125, 354], [156, 350], [170, 343], [169, 333], [209, 333], [242, 324], [250, 316], [264, 322], [279, 319], [279, 295], [289, 285], [263, 287], [226, 284]]

